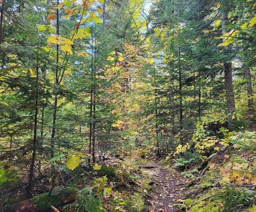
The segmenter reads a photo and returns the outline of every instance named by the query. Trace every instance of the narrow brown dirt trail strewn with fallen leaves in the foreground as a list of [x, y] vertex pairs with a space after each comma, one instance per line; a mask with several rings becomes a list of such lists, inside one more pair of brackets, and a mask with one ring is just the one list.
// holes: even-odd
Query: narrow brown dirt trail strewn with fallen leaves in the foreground
[[144, 212], [181, 211], [173, 206], [173, 204], [179, 203], [186, 190], [185, 180], [180, 173], [170, 166], [162, 164], [156, 164], [154, 168], [146, 168], [146, 170], [154, 181], [154, 187]]

